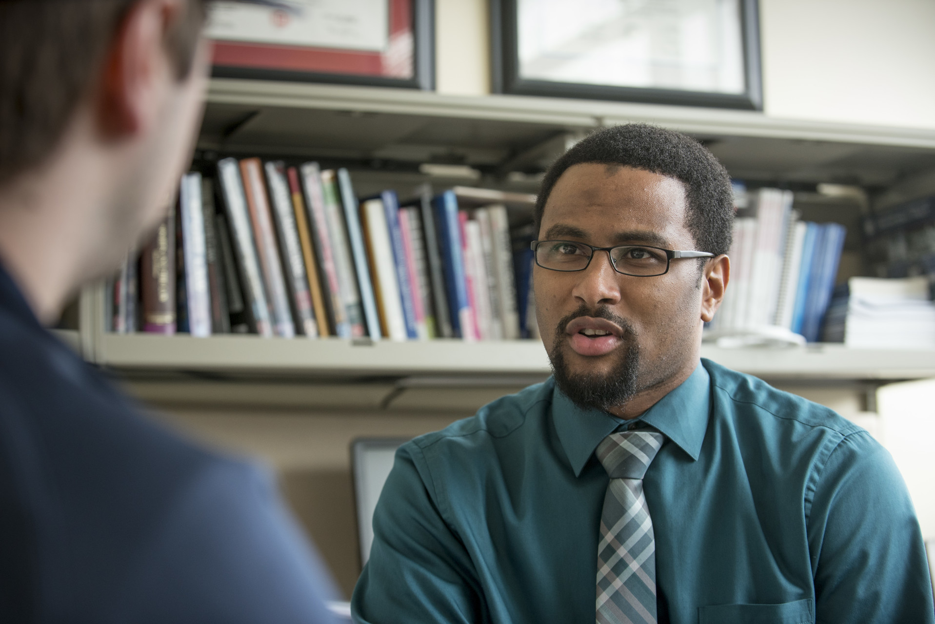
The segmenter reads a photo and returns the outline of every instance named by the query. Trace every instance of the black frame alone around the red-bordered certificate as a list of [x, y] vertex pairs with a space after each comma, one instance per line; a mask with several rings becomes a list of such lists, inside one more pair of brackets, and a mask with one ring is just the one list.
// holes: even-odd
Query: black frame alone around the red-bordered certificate
[[386, 78], [332, 72], [212, 65], [212, 78], [244, 78], [289, 82], [391, 87], [435, 91], [435, 0], [412, 0], [412, 78]]

